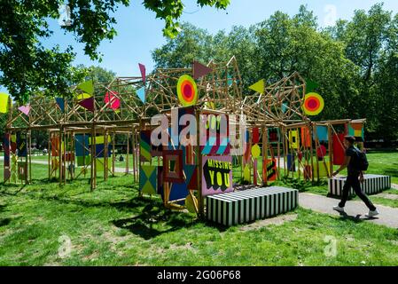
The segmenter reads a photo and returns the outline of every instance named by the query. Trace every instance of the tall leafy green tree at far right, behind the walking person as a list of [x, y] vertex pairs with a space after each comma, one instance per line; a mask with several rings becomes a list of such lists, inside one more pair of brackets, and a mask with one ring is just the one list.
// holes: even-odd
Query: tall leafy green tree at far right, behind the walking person
[[[383, 4], [375, 4], [369, 12], [355, 11], [351, 21], [339, 21], [333, 36], [345, 44], [347, 59], [359, 71], [355, 81], [358, 95], [347, 98], [349, 113], [367, 118], [369, 138], [398, 138], [392, 123], [398, 114], [385, 109], [398, 92], [392, 88], [396, 79], [391, 79], [396, 75], [397, 16], [393, 20], [392, 12], [384, 11]], [[380, 105], [383, 103], [386, 105]]]

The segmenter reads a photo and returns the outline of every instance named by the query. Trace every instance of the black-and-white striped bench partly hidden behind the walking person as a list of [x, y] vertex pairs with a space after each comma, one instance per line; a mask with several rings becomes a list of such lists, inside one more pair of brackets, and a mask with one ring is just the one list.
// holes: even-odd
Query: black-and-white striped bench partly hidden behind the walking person
[[[333, 196], [341, 196], [343, 186], [346, 183], [347, 177], [333, 177], [329, 178], [329, 194]], [[366, 194], [376, 194], [391, 187], [391, 177], [380, 175], [363, 175], [363, 184], [361, 188]], [[354, 190], [351, 188], [350, 195], [354, 195]]]

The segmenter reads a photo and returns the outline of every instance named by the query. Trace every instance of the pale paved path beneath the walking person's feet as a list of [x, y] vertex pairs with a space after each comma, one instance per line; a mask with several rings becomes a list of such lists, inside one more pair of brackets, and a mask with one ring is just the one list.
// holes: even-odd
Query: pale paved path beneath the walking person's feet
[[[333, 210], [333, 206], [339, 203], [338, 199], [312, 194], [312, 193], [299, 193], [299, 204], [300, 207], [305, 209], [312, 209], [316, 212], [337, 215], [339, 212]], [[398, 228], [398, 209], [386, 207], [383, 205], [377, 205], [378, 212], [380, 213], [377, 217], [367, 218], [365, 214], [369, 211], [366, 205], [362, 201], [347, 201], [346, 212], [348, 218], [352, 218], [358, 221], [364, 221], [375, 223], [378, 225], [386, 225], [391, 228]]]

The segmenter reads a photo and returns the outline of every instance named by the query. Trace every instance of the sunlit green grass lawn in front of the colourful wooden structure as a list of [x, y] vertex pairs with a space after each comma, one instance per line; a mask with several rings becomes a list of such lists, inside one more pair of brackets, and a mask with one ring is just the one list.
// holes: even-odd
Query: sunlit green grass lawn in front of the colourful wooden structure
[[[35, 173], [47, 175], [35, 165]], [[0, 265], [395, 265], [394, 229], [306, 209], [283, 225], [230, 228], [141, 198], [131, 176], [0, 190]], [[324, 249], [332, 236], [337, 256]], [[59, 251], [70, 240], [70, 255]]]

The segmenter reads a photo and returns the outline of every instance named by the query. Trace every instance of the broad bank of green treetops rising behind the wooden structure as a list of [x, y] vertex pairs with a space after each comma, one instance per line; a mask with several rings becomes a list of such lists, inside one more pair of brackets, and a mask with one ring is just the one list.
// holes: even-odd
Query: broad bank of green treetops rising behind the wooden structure
[[398, 138], [398, 106], [389, 103], [398, 99], [398, 15], [382, 4], [325, 29], [305, 6], [292, 17], [275, 12], [229, 33], [211, 35], [183, 24], [179, 36], [152, 51], [157, 67], [187, 67], [194, 59], [222, 62], [233, 55], [244, 91], [261, 78], [275, 83], [298, 71], [319, 85], [316, 91], [325, 100], [324, 111], [313, 120], [367, 118], [368, 140]]

